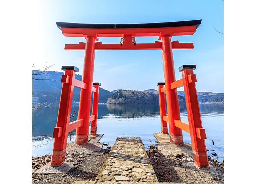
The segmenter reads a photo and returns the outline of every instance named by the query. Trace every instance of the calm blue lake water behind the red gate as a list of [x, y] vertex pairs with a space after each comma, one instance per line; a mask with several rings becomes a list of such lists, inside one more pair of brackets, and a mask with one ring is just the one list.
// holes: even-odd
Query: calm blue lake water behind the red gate
[[[216, 152], [218, 158], [223, 158], [223, 105], [199, 104], [203, 128], [206, 130], [205, 139], [208, 155]], [[52, 153], [53, 128], [56, 126], [58, 105], [53, 108], [33, 110], [33, 156]], [[71, 113], [78, 112], [78, 105], [72, 105]], [[185, 104], [180, 104], [181, 120], [188, 122]], [[74, 120], [77, 116], [74, 117]], [[158, 104], [112, 105], [99, 104], [97, 133], [104, 136], [100, 142], [112, 146], [117, 137], [140, 137], [145, 148], [157, 141], [153, 133], [161, 131], [160, 112]], [[169, 131], [168, 131], [169, 132]], [[74, 141], [75, 130], [73, 131]], [[185, 143], [191, 143], [190, 134], [183, 131]], [[214, 145], [212, 144], [214, 140]], [[70, 137], [68, 137], [68, 142]], [[212, 156], [212, 155], [211, 155]]]

